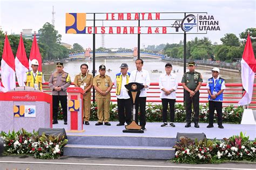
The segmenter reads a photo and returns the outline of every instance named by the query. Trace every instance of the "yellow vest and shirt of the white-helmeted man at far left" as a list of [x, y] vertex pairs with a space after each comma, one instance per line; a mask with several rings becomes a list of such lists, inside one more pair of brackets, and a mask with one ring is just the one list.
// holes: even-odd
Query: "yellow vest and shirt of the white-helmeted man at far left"
[[26, 86], [38, 88], [38, 90], [43, 91], [42, 83], [44, 83], [44, 77], [41, 71], [37, 70], [36, 73], [34, 73], [33, 70], [30, 70], [26, 72]]

